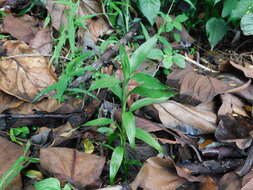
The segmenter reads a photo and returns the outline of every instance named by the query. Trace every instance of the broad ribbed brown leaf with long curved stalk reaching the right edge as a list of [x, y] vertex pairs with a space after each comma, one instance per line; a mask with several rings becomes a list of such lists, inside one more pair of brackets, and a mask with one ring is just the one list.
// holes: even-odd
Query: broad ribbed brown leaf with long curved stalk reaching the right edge
[[174, 71], [167, 79], [169, 86], [180, 86], [180, 95], [190, 96], [193, 101], [198, 101], [199, 103], [210, 102], [218, 94], [246, 89], [251, 82], [248, 81], [242, 86], [234, 87], [216, 78], [197, 74], [190, 67]]

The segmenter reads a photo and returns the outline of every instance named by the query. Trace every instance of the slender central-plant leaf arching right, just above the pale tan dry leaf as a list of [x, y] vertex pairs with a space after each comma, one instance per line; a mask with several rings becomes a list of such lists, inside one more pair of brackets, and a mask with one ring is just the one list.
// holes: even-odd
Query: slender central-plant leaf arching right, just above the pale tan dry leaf
[[[171, 94], [171, 96], [173, 96]], [[136, 102], [134, 102], [131, 107], [130, 107], [130, 111], [133, 112], [135, 110], [138, 110], [144, 106], [148, 106], [150, 104], [155, 104], [155, 103], [161, 103], [166, 101], [168, 98], [170, 97], [163, 97], [163, 98], [142, 98], [140, 100], [137, 100]]]

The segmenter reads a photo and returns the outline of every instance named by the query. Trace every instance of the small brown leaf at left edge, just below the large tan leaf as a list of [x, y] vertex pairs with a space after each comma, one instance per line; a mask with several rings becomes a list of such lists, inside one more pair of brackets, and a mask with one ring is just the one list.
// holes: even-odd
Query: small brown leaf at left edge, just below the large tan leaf
[[7, 109], [17, 108], [24, 103], [23, 101], [13, 96], [8, 95], [4, 93], [3, 91], [0, 91], [0, 102], [1, 102], [0, 113], [2, 113], [3, 111]]

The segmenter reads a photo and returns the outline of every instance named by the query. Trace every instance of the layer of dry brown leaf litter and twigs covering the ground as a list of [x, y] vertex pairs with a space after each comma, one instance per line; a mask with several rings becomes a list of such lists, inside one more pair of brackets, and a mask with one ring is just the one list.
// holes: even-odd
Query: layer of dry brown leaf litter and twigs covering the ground
[[[9, 7], [10, 10], [21, 10], [28, 4], [28, 1], [0, 1], [1, 7]], [[109, 91], [101, 89], [94, 94], [98, 99], [86, 95], [80, 99], [76, 96], [59, 102], [52, 98], [55, 95], [53, 91], [33, 102], [40, 91], [60, 80], [57, 75], [59, 71], [49, 64], [49, 57], [52, 56], [54, 45], [53, 34], [59, 33], [62, 25], [68, 25], [65, 12], [70, 7], [68, 4], [47, 1], [44, 9], [51, 16], [51, 23], [46, 27], [36, 15], [17, 16], [14, 12], [8, 13], [1, 23], [1, 33], [11, 36], [0, 43], [1, 177], [23, 154], [20, 146], [6, 140], [11, 136], [11, 129], [29, 126], [31, 134], [28, 139], [33, 144], [30, 156], [40, 158], [40, 163], [32, 163], [32, 167], [39, 169], [44, 176], [56, 177], [61, 184], [71, 184], [75, 189], [252, 188], [252, 60], [245, 55], [235, 54], [229, 57], [229, 61], [218, 61], [222, 69], [221, 65], [204, 65], [220, 71], [217, 73], [201, 70], [191, 64], [194, 63], [192, 60], [186, 63], [186, 68], [173, 67], [172, 73], [165, 74], [162, 80], [177, 92], [176, 96], [134, 112], [136, 127], [151, 132], [163, 145], [164, 154], [157, 154], [152, 147], [139, 141], [134, 150], [127, 146], [125, 151], [129, 161], [136, 162], [129, 164], [127, 180], [124, 180], [126, 171], [121, 169], [116, 181], [118, 185], [109, 187], [107, 179], [112, 147], [105, 144], [107, 136], [99, 130], [113, 134], [115, 123], [103, 129], [80, 126], [93, 119], [98, 110], [99, 117], [122, 122], [122, 110], [116, 98]], [[104, 13], [100, 1], [80, 1], [76, 14], [85, 18], [80, 21], [85, 23], [85, 27], [78, 28], [77, 38], [84, 50], [87, 51], [87, 47], [96, 48], [103, 41], [101, 37], [112, 32], [112, 25]], [[156, 27], [162, 24], [163, 20], [158, 17]], [[132, 40], [138, 32], [136, 28], [127, 40]], [[194, 43], [185, 28], [179, 34], [184, 43]], [[163, 37], [171, 40], [169, 34], [164, 33]], [[126, 46], [124, 39], [121, 42]], [[111, 63], [118, 50], [118, 45], [107, 48], [97, 62], [99, 67], [106, 68], [103, 64]], [[187, 55], [187, 51], [180, 51]], [[152, 72], [145, 67], [138, 72], [157, 74], [160, 78], [159, 71], [163, 66], [154, 60], [152, 64], [157, 65]], [[122, 78], [120, 64], [114, 63], [115, 70], [111, 67], [110, 72], [104, 74], [113, 75], [115, 71]], [[84, 85], [89, 85], [90, 78], [86, 75], [82, 79], [87, 83]], [[136, 81], [131, 81], [128, 90], [137, 86]], [[130, 96], [128, 106], [140, 98], [139, 95]], [[34, 126], [39, 129], [33, 131]], [[17, 140], [27, 142], [18, 135]], [[119, 142], [116, 141], [115, 145], [119, 145]], [[7, 189], [22, 189], [34, 182], [27, 182], [27, 177], [22, 180], [21, 176], [24, 178], [25, 172], [17, 174]], [[126, 183], [122, 184], [124, 181]]]

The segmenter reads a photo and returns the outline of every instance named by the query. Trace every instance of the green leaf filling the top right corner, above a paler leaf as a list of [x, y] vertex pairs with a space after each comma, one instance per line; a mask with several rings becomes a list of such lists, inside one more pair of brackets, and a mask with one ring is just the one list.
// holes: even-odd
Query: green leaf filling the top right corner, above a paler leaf
[[231, 19], [242, 18], [248, 11], [252, 10], [252, 0], [240, 0], [235, 9], [232, 10]]

